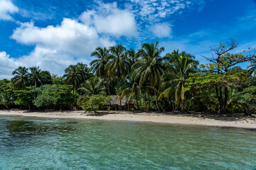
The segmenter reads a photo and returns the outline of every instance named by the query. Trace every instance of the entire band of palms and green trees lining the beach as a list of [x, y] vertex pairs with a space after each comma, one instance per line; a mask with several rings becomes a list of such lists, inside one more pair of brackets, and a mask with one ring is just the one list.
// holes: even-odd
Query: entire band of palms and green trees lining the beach
[[[199, 65], [187, 52], [164, 57], [159, 42], [140, 50], [122, 45], [97, 47], [86, 64], [65, 69], [63, 77], [39, 67], [18, 67], [11, 80], [0, 81], [1, 108], [80, 109], [95, 111], [112, 95], [126, 96], [139, 111], [256, 112], [255, 50], [231, 53], [236, 40], [210, 48], [213, 55]], [[235, 51], [235, 50], [234, 50]], [[238, 67], [247, 63], [247, 69]]]

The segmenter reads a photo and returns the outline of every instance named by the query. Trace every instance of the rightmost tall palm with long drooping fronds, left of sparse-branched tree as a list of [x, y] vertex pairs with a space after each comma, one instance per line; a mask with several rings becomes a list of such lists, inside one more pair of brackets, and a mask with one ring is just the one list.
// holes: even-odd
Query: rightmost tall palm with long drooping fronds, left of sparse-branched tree
[[169, 98], [174, 94], [176, 104], [180, 105], [181, 103], [184, 109], [185, 80], [189, 74], [195, 72], [198, 62], [194, 60], [195, 57], [193, 55], [189, 55], [186, 52], [178, 54], [178, 51], [175, 50], [171, 54], [166, 54], [165, 58], [169, 59], [173, 68], [167, 70], [162, 77], [164, 81], [162, 86], [166, 88], [164, 88], [159, 98], [162, 96]]

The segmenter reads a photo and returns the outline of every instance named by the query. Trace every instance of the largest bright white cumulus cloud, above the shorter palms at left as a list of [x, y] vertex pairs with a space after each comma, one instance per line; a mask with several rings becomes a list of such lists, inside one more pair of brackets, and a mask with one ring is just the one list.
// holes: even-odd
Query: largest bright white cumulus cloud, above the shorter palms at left
[[109, 47], [115, 42], [100, 36], [92, 26], [64, 18], [59, 26], [39, 28], [34, 23], [22, 23], [11, 38], [24, 45], [36, 45], [29, 54], [14, 62], [26, 67], [39, 66], [53, 74], [63, 74], [70, 64], [89, 64], [95, 47]]

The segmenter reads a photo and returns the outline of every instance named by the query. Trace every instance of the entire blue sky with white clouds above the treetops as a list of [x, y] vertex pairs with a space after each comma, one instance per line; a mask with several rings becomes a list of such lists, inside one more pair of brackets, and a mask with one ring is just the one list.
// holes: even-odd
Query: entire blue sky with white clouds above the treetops
[[0, 0], [0, 79], [18, 66], [61, 76], [70, 64], [89, 65], [95, 47], [156, 41], [163, 56], [186, 51], [204, 64], [230, 38], [235, 52], [256, 47], [255, 30], [255, 0]]

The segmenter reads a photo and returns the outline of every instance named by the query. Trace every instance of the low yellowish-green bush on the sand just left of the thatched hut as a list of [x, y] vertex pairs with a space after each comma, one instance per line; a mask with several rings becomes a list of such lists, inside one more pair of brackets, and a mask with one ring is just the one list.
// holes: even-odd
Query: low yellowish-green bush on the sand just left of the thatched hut
[[107, 103], [111, 102], [110, 96], [102, 96], [102, 95], [92, 95], [87, 97], [80, 106], [85, 111], [98, 111], [102, 109], [102, 106], [105, 106]]

